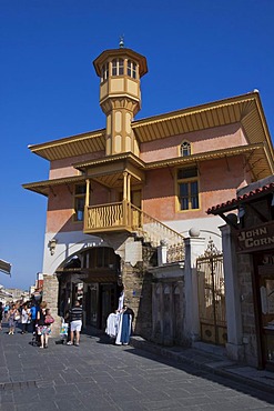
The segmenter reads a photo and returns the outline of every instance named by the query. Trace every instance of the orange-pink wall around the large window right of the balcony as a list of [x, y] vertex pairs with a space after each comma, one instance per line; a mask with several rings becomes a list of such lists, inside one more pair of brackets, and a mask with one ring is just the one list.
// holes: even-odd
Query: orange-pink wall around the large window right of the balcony
[[242, 156], [200, 163], [200, 209], [181, 211], [176, 209], [176, 174], [169, 169], [148, 173], [143, 189], [143, 210], [162, 221], [186, 220], [206, 217], [205, 211], [219, 202], [235, 197], [236, 189], [250, 181], [244, 170]]

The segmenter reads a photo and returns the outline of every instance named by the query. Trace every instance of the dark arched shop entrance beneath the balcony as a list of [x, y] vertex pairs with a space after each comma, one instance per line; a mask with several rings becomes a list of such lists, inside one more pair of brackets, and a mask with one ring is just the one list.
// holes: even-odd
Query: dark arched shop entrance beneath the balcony
[[72, 255], [57, 273], [60, 315], [65, 317], [78, 300], [83, 307], [83, 325], [104, 330], [121, 292], [120, 257], [114, 250], [89, 248]]

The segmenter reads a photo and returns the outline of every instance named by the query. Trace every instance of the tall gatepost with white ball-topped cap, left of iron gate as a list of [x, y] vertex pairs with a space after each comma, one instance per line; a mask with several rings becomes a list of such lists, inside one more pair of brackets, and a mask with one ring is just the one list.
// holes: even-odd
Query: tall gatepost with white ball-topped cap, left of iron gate
[[[196, 259], [204, 253], [205, 239], [199, 238], [199, 230], [190, 230], [190, 238], [184, 240], [185, 244], [185, 337], [190, 342], [200, 338], [199, 320], [199, 293]], [[194, 237], [195, 235], [195, 237]]]

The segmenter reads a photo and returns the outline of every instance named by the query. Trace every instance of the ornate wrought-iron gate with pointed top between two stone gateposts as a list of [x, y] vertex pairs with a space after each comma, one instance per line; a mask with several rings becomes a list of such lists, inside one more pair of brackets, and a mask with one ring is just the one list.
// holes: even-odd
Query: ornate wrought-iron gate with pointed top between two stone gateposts
[[227, 339], [223, 254], [211, 239], [196, 269], [201, 340], [223, 345]]

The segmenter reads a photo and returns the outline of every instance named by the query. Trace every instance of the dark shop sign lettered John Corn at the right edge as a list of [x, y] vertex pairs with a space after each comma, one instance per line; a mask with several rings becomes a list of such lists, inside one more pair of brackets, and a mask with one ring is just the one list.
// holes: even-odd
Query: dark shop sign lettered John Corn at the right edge
[[274, 248], [274, 221], [240, 230], [237, 252], [253, 252]]

